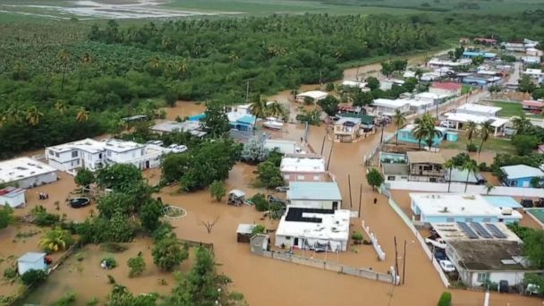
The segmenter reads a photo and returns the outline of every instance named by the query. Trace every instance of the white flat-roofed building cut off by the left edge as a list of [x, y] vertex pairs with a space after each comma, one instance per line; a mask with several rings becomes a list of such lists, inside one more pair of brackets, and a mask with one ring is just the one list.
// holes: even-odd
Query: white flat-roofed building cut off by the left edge
[[0, 162], [0, 183], [13, 183], [19, 188], [32, 188], [56, 182], [56, 169], [30, 157]]

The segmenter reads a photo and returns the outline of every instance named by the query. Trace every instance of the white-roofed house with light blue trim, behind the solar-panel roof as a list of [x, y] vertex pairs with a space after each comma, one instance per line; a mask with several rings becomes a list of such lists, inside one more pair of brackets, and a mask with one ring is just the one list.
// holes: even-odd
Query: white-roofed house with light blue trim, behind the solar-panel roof
[[438, 222], [519, 222], [522, 214], [512, 208], [497, 208], [480, 194], [410, 193], [412, 218]]

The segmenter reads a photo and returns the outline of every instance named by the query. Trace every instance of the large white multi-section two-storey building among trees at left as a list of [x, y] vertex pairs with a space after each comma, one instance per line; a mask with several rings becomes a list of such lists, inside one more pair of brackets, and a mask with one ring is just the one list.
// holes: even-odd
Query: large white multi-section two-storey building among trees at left
[[157, 146], [145, 146], [124, 140], [78, 140], [46, 149], [50, 166], [72, 172], [86, 168], [96, 171], [102, 166], [113, 164], [132, 164], [140, 169], [160, 166], [161, 157], [166, 150]]

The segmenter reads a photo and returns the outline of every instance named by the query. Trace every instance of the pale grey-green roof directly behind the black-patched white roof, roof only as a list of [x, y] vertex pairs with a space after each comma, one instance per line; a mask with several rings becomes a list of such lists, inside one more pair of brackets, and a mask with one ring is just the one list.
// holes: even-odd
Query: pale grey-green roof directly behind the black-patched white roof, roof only
[[342, 200], [336, 182], [290, 182], [287, 200]]

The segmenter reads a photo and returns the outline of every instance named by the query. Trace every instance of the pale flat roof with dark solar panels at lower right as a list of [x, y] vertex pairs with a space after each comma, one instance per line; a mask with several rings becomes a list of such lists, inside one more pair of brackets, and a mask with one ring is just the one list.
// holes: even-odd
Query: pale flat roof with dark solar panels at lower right
[[[511, 241], [511, 242], [521, 242], [522, 240], [514, 234], [508, 227], [501, 222], [493, 222], [493, 223], [476, 223], [478, 225], [473, 225], [472, 223], [464, 223], [465, 225], [468, 225], [472, 229], [472, 234], [475, 234], [477, 238], [474, 238], [474, 235], [467, 234], [466, 231], [463, 230], [463, 228], [458, 222], [441, 222], [441, 223], [431, 223], [430, 225], [432, 228], [437, 232], [437, 234], [444, 240], [445, 242], [453, 242], [453, 241], [470, 241], [470, 240], [478, 240], [478, 241], [485, 241], [485, 240], [505, 240], [505, 241]], [[477, 227], [483, 227], [484, 230], [487, 232], [487, 234], [484, 234], [485, 236], [482, 236], [478, 234]], [[494, 228], [494, 229], [491, 229]], [[494, 234], [497, 230], [500, 234]], [[503, 234], [503, 235], [501, 235]], [[472, 238], [471, 238], [472, 237]]]

